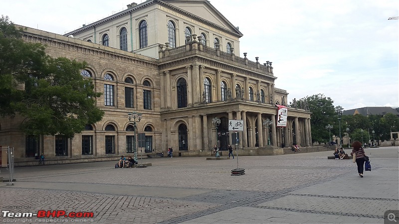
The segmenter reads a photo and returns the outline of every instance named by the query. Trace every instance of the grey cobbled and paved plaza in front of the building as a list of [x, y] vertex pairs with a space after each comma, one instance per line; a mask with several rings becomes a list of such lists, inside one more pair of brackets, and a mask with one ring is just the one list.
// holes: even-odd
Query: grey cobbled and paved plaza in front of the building
[[144, 159], [152, 166], [132, 169], [115, 169], [115, 161], [17, 167], [14, 186], [0, 185], [2, 211], [94, 217], [0, 223], [384, 223], [387, 210], [399, 210], [398, 147], [366, 153], [373, 171], [364, 178], [352, 160], [327, 160], [331, 151], [240, 156], [241, 176], [230, 175], [236, 160], [205, 157]]

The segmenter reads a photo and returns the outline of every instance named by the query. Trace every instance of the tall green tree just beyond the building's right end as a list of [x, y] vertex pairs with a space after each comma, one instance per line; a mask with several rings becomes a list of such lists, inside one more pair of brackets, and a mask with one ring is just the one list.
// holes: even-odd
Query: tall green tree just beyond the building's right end
[[[307, 96], [299, 101], [307, 102], [309, 111], [312, 112], [310, 124], [312, 126], [312, 140], [318, 142], [328, 142], [329, 131], [326, 129], [328, 124], [332, 124], [334, 128], [331, 134], [338, 132], [337, 114], [334, 109], [334, 101], [323, 94]], [[337, 124], [335, 124], [337, 122]]]

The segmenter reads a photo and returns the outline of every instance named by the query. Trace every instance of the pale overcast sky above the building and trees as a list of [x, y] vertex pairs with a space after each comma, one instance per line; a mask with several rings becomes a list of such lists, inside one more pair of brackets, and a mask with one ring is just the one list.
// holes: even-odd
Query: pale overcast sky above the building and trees
[[[144, 0], [0, 0], [16, 24], [64, 34]], [[398, 0], [211, 0], [243, 33], [240, 57], [272, 61], [288, 102], [324, 94], [345, 110], [398, 107]]]

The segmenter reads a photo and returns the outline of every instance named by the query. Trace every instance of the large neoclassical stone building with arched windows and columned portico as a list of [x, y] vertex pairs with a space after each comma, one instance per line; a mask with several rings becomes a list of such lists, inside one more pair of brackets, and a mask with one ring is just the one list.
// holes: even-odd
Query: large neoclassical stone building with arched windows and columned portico
[[[201, 5], [199, 14], [187, 10], [192, 4]], [[209, 14], [217, 19], [205, 20]], [[171, 29], [170, 22], [177, 28]], [[105, 34], [109, 42], [100, 41]], [[277, 148], [293, 143], [310, 146], [310, 112], [288, 108], [287, 126], [276, 127], [275, 105], [286, 105], [288, 93], [275, 88], [272, 62], [251, 61], [246, 53], [237, 56], [241, 36], [205, 0], [131, 4], [64, 36], [27, 28], [24, 40], [46, 45], [51, 57], [88, 63], [82, 76], [103, 93], [97, 106], [105, 115], [73, 139], [25, 136], [18, 129], [22, 118], [1, 119], [1, 144], [16, 149], [15, 161], [21, 165], [35, 163], [40, 153], [57, 163], [115, 159], [133, 154], [134, 127], [127, 113], [140, 112], [137, 131], [146, 135], [143, 155], [166, 155], [168, 147], [181, 156], [209, 155], [216, 144], [226, 150], [231, 119], [244, 120], [238, 145], [243, 155], [279, 154]], [[221, 120], [217, 127], [215, 117]], [[267, 119], [272, 125], [264, 125]]]

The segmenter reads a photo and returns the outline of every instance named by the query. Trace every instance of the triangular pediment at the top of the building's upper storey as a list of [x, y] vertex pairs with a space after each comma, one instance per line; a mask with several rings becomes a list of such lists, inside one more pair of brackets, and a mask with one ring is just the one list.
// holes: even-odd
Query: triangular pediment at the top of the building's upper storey
[[242, 36], [242, 33], [207, 0], [162, 0], [190, 14]]

